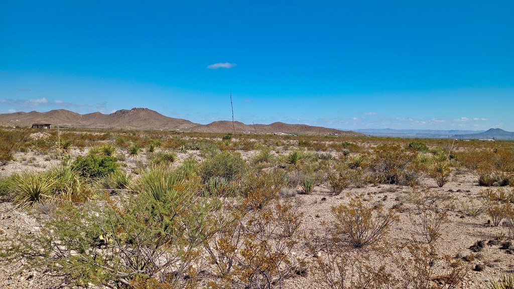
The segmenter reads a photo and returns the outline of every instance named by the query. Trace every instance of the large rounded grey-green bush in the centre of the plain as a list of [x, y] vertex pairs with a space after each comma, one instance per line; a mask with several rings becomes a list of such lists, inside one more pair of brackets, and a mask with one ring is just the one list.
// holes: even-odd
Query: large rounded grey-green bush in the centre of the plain
[[200, 164], [200, 174], [204, 181], [217, 176], [230, 182], [237, 175], [241, 174], [244, 168], [245, 161], [240, 155], [221, 152]]

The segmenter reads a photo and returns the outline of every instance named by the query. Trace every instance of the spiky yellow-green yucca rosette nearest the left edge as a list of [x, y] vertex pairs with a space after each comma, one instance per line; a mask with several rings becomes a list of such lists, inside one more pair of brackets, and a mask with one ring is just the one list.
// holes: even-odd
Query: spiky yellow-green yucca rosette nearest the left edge
[[13, 202], [19, 208], [30, 209], [52, 197], [53, 181], [41, 174], [15, 174], [9, 182], [14, 191]]

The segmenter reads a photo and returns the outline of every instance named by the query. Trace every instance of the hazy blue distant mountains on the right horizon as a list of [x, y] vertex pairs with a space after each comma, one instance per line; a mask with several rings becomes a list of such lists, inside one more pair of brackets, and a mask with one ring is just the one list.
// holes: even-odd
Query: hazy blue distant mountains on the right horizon
[[457, 138], [457, 139], [498, 139], [514, 140], [514, 133], [502, 129], [490, 129], [487, 131], [470, 130], [393, 130], [393, 129], [362, 129], [357, 132], [383, 137], [408, 137], [408, 138]]

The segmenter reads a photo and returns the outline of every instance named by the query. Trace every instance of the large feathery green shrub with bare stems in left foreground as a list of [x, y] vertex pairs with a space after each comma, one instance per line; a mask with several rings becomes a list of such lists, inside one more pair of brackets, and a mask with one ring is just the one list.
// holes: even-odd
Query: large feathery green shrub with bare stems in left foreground
[[[128, 195], [104, 205], [63, 204], [38, 234], [23, 234], [0, 247], [0, 262], [23, 259], [27, 267], [48, 268], [77, 283], [130, 288], [133, 279], [168, 278], [168, 288], [194, 288], [194, 265], [204, 242], [219, 230], [213, 212], [219, 202], [197, 198], [188, 190]], [[161, 260], [161, 262], [156, 262]]]

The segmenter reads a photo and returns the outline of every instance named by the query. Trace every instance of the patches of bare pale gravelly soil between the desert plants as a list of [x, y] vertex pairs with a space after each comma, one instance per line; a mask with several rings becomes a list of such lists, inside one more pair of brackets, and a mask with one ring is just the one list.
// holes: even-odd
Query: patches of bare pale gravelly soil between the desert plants
[[[78, 150], [70, 152], [71, 157], [84, 154]], [[179, 163], [190, 154], [197, 152], [178, 153]], [[253, 152], [242, 152], [244, 158], [249, 158]], [[199, 157], [198, 157], [199, 158]], [[45, 171], [52, 166], [56, 166], [58, 161], [35, 153], [17, 153], [16, 161], [11, 161], [3, 166], [0, 176], [10, 175], [15, 172]], [[126, 158], [126, 169], [134, 170], [138, 161], [145, 161], [145, 157], [131, 159]], [[484, 240], [488, 243], [494, 240], [495, 234], [504, 232], [508, 234], [508, 229], [502, 225], [492, 227], [488, 224], [488, 216], [482, 214], [477, 217], [466, 216], [459, 211], [459, 202], [468, 200], [478, 200], [483, 187], [478, 186], [477, 176], [467, 172], [452, 174], [451, 180], [443, 188], [438, 188], [432, 179], [425, 178], [421, 186], [430, 187], [434, 192], [448, 193], [456, 197], [455, 208], [451, 210], [448, 221], [442, 227], [442, 236], [437, 240], [438, 254], [456, 256], [473, 255], [472, 261], [468, 262], [471, 268], [463, 281], [462, 288], [486, 288], [489, 281], [493, 278], [498, 279], [502, 274], [514, 272], [514, 258], [507, 254], [501, 245], [486, 245], [480, 252], [472, 252], [469, 247], [476, 241]], [[345, 190], [340, 195], [331, 195], [325, 185], [315, 187], [311, 194], [297, 194], [295, 202], [299, 204], [300, 210], [304, 213], [303, 223], [300, 228], [299, 236], [305, 236], [303, 243], [300, 243], [295, 254], [305, 256], [306, 260], [313, 262], [315, 258], [323, 258], [325, 252], [320, 251], [317, 256], [313, 256], [307, 249], [309, 242], [314, 242], [322, 238], [327, 230], [327, 224], [333, 223], [331, 207], [348, 202], [347, 194], [363, 194], [363, 200], [369, 204], [381, 204], [385, 208], [401, 208], [400, 221], [394, 225], [389, 233], [389, 241], [405, 243], [412, 233], [412, 225], [409, 221], [407, 212], [413, 209], [413, 205], [407, 202], [410, 187], [397, 185], [365, 185], [362, 188]], [[9, 239], [17, 233], [38, 233], [44, 220], [41, 210], [25, 211], [17, 210], [10, 202], [0, 203], [0, 238]], [[0, 244], [2, 245], [2, 244]], [[398, 252], [398, 254], [402, 254]], [[380, 260], [377, 260], [380, 261]], [[382, 260], [383, 261], [383, 260]], [[388, 260], [385, 261], [390, 262]], [[475, 265], [485, 265], [481, 272], [472, 270]], [[38, 272], [31, 269], [23, 269], [23, 262], [15, 262], [0, 268], [0, 288], [73, 288], [77, 287], [71, 280], [65, 280], [61, 276], [51, 276], [45, 272]], [[436, 264], [435, 272], [437, 272]], [[440, 269], [440, 268], [439, 268]], [[319, 288], [319, 283], [311, 278], [309, 273], [306, 277], [295, 276], [285, 281], [285, 288]], [[94, 287], [94, 286], [89, 286]]]

